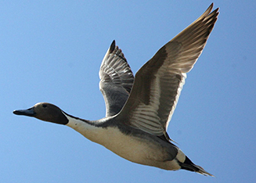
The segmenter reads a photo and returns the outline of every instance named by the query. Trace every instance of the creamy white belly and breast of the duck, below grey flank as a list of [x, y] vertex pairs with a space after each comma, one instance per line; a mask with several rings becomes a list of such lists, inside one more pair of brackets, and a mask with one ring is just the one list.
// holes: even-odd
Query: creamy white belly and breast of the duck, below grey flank
[[117, 127], [85, 127], [75, 125], [74, 130], [92, 142], [99, 143], [126, 160], [165, 170], [178, 170], [175, 159], [170, 160], [167, 148], [148, 137], [126, 135]]

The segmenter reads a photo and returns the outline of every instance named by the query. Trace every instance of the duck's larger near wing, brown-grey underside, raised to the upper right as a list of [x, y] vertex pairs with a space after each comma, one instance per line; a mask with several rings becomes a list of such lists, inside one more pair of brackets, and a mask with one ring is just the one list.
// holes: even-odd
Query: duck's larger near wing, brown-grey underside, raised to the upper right
[[[196, 21], [164, 45], [135, 75], [135, 83], [119, 120], [152, 135], [165, 135], [185, 83], [218, 16], [213, 4]], [[128, 120], [124, 120], [124, 119]]]

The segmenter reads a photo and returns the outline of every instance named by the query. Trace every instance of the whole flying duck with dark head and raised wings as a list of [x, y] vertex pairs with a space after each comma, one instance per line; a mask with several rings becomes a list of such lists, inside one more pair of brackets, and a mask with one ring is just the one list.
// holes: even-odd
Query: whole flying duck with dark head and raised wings
[[123, 52], [112, 42], [99, 70], [99, 88], [106, 103], [103, 119], [74, 117], [47, 102], [13, 113], [72, 127], [134, 163], [213, 176], [189, 160], [167, 133], [186, 73], [197, 62], [215, 26], [218, 9], [211, 12], [212, 8], [213, 4], [160, 48], [135, 77]]

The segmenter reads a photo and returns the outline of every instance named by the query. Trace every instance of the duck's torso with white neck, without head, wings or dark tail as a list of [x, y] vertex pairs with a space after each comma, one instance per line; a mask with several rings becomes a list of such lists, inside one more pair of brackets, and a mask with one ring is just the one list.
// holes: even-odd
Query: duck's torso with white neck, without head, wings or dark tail
[[[180, 168], [175, 161], [170, 161], [174, 159], [173, 151], [178, 152], [179, 149], [170, 142], [164, 142], [161, 138], [132, 128], [127, 129], [114, 125], [105, 127], [104, 122], [103, 126], [94, 126], [85, 123], [84, 120], [74, 119], [68, 115], [67, 118], [69, 119], [67, 126], [72, 127], [92, 142], [105, 146], [106, 149], [110, 149], [126, 160], [160, 167], [165, 170], [178, 170]], [[111, 118], [104, 120], [111, 124]], [[125, 130], [122, 130], [122, 128], [125, 128]], [[185, 159], [185, 155], [180, 150], [179, 153]]]

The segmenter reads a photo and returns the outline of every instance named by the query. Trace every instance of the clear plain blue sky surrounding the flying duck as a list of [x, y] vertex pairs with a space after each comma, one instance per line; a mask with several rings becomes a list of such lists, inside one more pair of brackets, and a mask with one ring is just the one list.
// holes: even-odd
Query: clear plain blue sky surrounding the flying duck
[[254, 182], [256, 1], [220, 15], [188, 74], [168, 134], [216, 178], [131, 163], [69, 127], [13, 115], [52, 102], [105, 116], [99, 66], [117, 41], [135, 74], [211, 1], [0, 2], [1, 182]]

